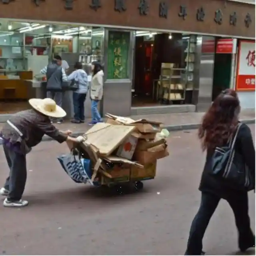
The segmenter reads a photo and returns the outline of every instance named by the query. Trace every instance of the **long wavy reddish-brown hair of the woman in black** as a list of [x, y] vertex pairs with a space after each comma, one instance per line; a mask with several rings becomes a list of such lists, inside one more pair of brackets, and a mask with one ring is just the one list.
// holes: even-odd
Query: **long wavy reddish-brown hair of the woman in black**
[[198, 129], [203, 150], [223, 146], [236, 129], [240, 102], [232, 89], [224, 90], [212, 103]]

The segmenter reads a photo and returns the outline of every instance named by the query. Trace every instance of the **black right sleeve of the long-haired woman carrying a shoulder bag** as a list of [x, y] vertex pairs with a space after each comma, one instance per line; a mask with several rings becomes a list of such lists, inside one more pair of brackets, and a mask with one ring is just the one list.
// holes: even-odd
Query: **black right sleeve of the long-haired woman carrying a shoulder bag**
[[245, 163], [255, 180], [255, 148], [251, 130], [244, 124], [241, 126], [240, 142]]

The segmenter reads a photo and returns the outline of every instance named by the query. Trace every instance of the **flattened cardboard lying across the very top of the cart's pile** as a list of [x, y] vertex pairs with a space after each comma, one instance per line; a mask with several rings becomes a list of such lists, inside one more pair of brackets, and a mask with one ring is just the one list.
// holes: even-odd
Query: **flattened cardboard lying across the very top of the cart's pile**
[[[124, 125], [132, 125], [136, 126], [139, 132], [142, 133], [156, 133], [162, 130], [161, 122], [149, 121], [146, 119], [133, 120], [124, 116], [114, 116], [112, 114], [106, 114], [108, 117], [109, 124], [124, 124]], [[112, 119], [112, 120], [111, 120]], [[114, 120], [114, 122], [113, 122]]]

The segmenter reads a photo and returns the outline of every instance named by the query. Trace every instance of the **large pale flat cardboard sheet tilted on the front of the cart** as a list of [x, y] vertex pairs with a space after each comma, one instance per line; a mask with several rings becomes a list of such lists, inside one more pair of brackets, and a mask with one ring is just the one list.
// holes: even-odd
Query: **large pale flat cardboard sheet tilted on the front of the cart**
[[135, 129], [135, 126], [98, 123], [83, 135], [86, 138], [83, 144], [92, 144], [101, 156], [109, 156]]

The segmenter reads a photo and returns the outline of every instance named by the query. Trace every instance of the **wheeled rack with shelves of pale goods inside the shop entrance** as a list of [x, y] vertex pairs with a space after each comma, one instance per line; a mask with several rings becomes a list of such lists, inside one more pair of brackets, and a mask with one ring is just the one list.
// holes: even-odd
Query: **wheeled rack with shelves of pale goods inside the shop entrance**
[[157, 98], [162, 104], [183, 104], [186, 94], [186, 68], [162, 63]]

